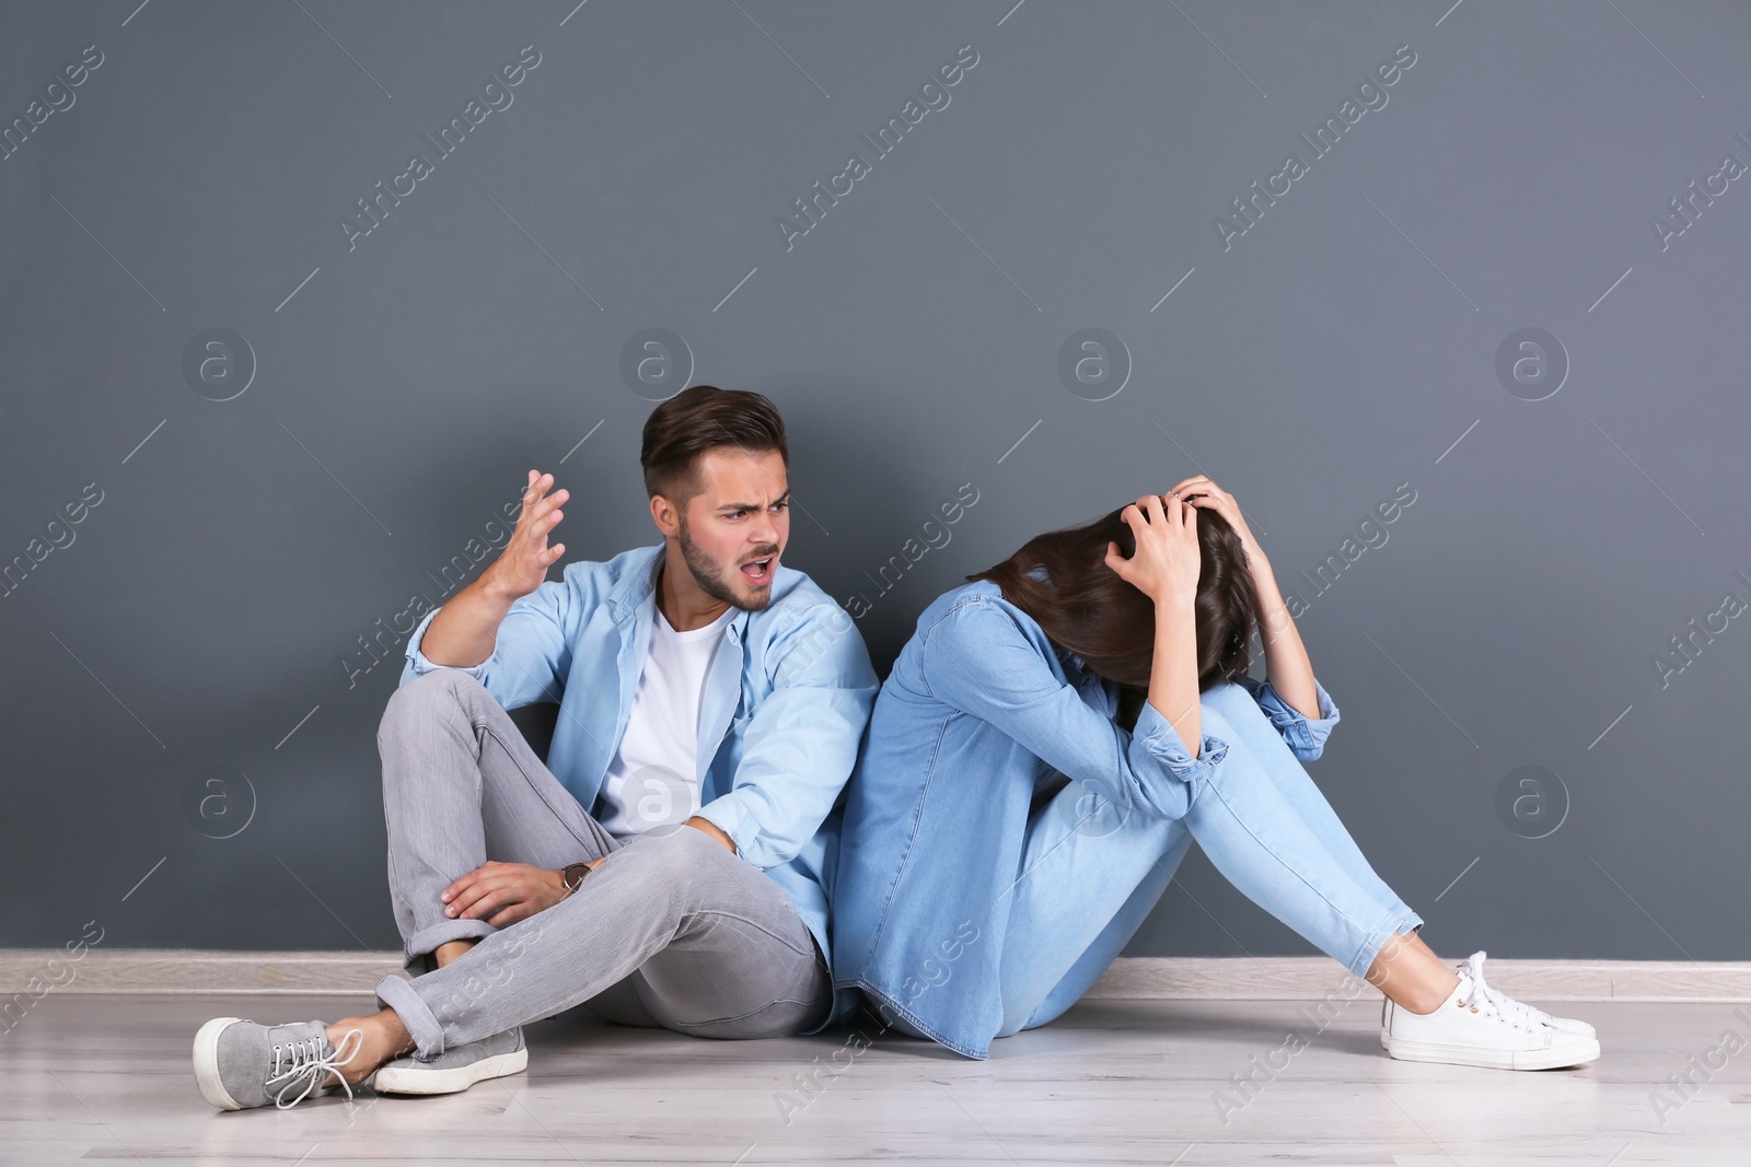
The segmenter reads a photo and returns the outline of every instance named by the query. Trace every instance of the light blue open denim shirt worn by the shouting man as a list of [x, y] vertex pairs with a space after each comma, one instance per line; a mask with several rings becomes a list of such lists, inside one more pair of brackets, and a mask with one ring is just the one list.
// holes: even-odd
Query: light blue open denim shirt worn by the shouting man
[[[606, 563], [567, 563], [562, 579], [511, 604], [492, 656], [461, 670], [504, 709], [559, 702], [546, 765], [587, 810], [632, 714], [662, 555], [658, 544]], [[408, 637], [401, 684], [445, 668], [420, 653], [436, 614]], [[807, 576], [779, 565], [770, 604], [737, 611], [727, 625], [700, 698], [697, 814], [777, 882], [828, 959], [837, 814], [828, 815], [856, 761], [876, 688], [851, 616]]]

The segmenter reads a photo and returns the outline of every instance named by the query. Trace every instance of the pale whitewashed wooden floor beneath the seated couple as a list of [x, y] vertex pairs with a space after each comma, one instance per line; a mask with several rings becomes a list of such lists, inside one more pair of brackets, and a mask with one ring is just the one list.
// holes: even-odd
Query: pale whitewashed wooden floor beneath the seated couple
[[[1294, 1003], [1098, 1001], [986, 1062], [898, 1036], [853, 1057], [846, 1032], [702, 1041], [567, 1015], [525, 1031], [527, 1074], [459, 1095], [224, 1115], [196, 1092], [205, 1018], [359, 1006], [51, 994], [0, 1036], [0, 1162], [1751, 1164], [1751, 1024], [1726, 1004], [1569, 1006], [1604, 1057], [1536, 1074], [1394, 1062], [1378, 997], [1320, 1034]], [[1285, 1048], [1290, 1029], [1308, 1048]], [[811, 1071], [812, 1095], [797, 1088]], [[1245, 1071], [1250, 1097], [1229, 1081]], [[1684, 1073], [1698, 1088], [1656, 1113]]]

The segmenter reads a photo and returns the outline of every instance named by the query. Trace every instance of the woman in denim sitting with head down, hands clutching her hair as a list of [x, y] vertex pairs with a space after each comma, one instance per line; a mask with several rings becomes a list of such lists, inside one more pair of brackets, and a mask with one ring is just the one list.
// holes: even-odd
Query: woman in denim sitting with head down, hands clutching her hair
[[[1387, 997], [1392, 1057], [1501, 1069], [1599, 1057], [1417, 936], [1303, 761], [1338, 709], [1240, 506], [1205, 476], [1038, 535], [918, 619], [847, 787], [840, 1015], [986, 1057], [1070, 1008], [1192, 842]], [[1254, 628], [1266, 681], [1247, 675]], [[1196, 745], [1189, 745], [1196, 744]]]

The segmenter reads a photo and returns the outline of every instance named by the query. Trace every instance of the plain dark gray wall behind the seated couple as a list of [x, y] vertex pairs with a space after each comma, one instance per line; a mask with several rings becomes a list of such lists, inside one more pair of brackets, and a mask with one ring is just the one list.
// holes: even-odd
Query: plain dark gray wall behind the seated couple
[[[392, 947], [362, 639], [532, 465], [569, 558], [653, 541], [637, 432], [692, 380], [783, 408], [788, 562], [883, 672], [967, 572], [1212, 474], [1443, 952], [1751, 959], [1751, 12], [1012, 2], [9, 5], [0, 943]], [[1133, 943], [1243, 950], [1308, 948], [1201, 859]]]

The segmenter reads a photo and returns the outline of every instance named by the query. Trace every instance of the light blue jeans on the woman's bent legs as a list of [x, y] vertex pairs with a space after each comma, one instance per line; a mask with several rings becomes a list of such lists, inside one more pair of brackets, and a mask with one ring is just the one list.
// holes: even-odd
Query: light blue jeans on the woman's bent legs
[[1382, 945], [1422, 926], [1368, 866], [1355, 840], [1257, 702], [1206, 689], [1203, 731], [1227, 758], [1184, 819], [1150, 817], [1070, 784], [1028, 819], [1019, 878], [1005, 896], [1003, 1027], [1068, 1010], [1112, 964], [1196, 840], [1248, 899], [1357, 976]]

